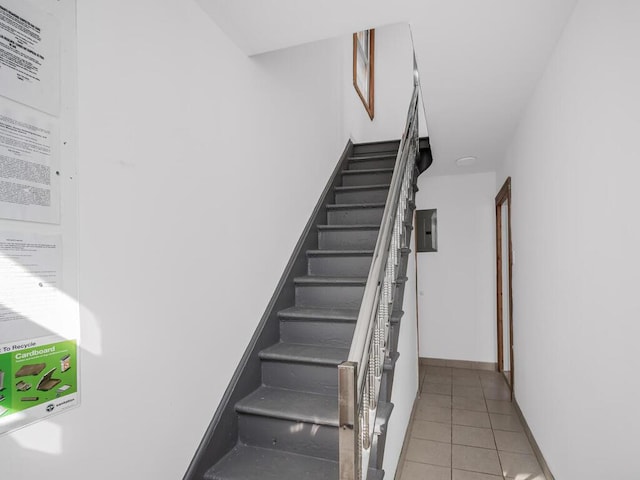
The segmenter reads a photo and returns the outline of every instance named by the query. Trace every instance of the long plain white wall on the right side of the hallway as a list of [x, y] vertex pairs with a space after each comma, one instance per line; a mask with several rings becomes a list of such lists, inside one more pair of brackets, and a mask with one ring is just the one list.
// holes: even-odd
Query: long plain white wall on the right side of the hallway
[[558, 480], [637, 478], [640, 4], [581, 1], [520, 122], [516, 398]]

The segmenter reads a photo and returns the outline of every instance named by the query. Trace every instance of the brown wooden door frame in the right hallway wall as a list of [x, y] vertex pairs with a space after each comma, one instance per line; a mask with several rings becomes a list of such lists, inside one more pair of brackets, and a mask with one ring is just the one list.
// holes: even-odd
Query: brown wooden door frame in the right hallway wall
[[511, 389], [511, 398], [513, 399], [513, 372], [514, 358], [513, 358], [513, 251], [511, 248], [511, 177], [507, 177], [507, 180], [502, 185], [502, 188], [496, 195], [496, 302], [497, 302], [497, 322], [498, 322], [498, 371], [504, 370], [504, 352], [503, 352], [503, 298], [502, 298], [502, 205], [506, 202], [507, 211], [507, 232], [509, 234], [508, 256], [509, 256], [509, 356], [510, 362], [510, 380], [509, 388]]

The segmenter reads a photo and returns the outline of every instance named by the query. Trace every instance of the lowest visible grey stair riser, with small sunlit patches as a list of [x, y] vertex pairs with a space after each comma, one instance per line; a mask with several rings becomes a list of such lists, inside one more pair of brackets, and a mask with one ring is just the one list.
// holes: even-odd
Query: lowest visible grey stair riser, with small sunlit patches
[[245, 414], [238, 421], [242, 443], [338, 460], [337, 427]]

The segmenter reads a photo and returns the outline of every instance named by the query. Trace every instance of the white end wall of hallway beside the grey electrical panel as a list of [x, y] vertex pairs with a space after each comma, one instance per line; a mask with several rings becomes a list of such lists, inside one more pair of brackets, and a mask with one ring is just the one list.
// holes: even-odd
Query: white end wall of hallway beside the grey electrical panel
[[420, 357], [495, 362], [495, 173], [419, 177], [438, 251], [418, 253]]

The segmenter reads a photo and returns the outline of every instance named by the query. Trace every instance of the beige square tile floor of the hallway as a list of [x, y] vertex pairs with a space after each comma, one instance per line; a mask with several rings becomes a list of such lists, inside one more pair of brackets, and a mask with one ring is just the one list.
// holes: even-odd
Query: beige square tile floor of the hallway
[[420, 367], [400, 480], [544, 480], [501, 374]]

